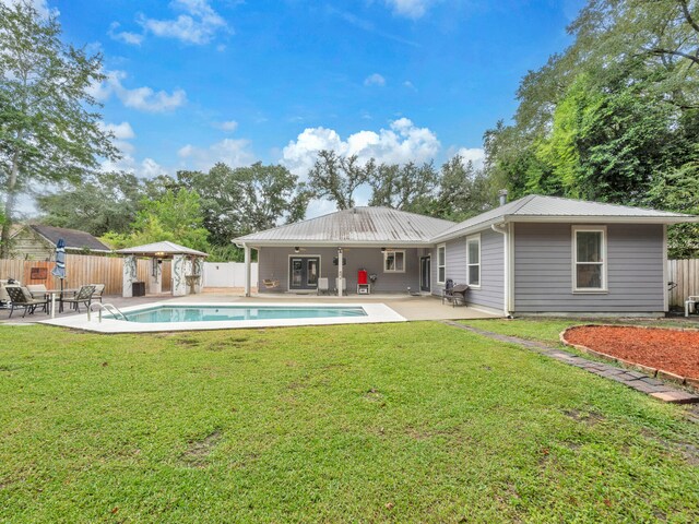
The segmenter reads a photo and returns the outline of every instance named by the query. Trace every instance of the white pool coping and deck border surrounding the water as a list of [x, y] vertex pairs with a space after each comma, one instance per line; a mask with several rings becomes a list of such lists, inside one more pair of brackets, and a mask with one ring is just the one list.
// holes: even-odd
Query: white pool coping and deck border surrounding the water
[[[130, 306], [121, 311], [132, 312], [151, 309], [159, 306], [187, 306], [187, 307], [241, 307], [240, 302], [190, 302], [190, 301], [158, 301], [149, 305]], [[304, 302], [299, 305], [270, 303], [270, 302], [246, 302], [245, 307], [270, 307], [281, 306], [288, 308], [327, 308], [323, 302]], [[353, 302], [333, 303], [333, 308], [357, 308], [366, 311], [366, 317], [334, 317], [315, 319], [265, 319], [265, 320], [237, 320], [237, 321], [200, 321], [200, 322], [126, 322], [123, 320], [102, 319], [97, 321], [98, 313], [93, 311], [92, 320], [87, 319], [87, 313], [75, 314], [62, 319], [48, 319], [39, 321], [42, 324], [58, 325], [74, 330], [91, 331], [94, 333], [162, 333], [173, 331], [211, 331], [211, 330], [237, 330], [237, 329], [259, 329], [259, 327], [291, 327], [303, 325], [335, 325], [335, 324], [372, 324], [383, 322], [407, 322], [407, 319], [399, 314], [389, 306], [382, 302]]]

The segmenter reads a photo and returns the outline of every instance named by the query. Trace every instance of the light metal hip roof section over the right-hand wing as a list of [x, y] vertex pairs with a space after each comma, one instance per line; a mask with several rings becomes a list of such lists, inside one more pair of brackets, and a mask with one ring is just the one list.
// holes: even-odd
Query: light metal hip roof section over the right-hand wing
[[699, 222], [699, 217], [668, 211], [530, 194], [457, 224], [441, 231], [433, 240], [450, 240], [491, 224], [506, 222], [679, 224]]

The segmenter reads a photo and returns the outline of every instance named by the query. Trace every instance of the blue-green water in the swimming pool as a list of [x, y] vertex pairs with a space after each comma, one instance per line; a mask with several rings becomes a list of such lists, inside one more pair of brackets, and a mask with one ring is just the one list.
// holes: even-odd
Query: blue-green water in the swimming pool
[[241, 320], [366, 317], [362, 307], [156, 306], [125, 312], [130, 322], [221, 322]]

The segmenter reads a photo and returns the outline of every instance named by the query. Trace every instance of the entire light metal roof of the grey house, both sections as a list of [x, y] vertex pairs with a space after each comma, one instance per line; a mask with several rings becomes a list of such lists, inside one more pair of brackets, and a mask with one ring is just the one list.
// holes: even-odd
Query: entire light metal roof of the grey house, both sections
[[250, 246], [377, 245], [442, 242], [507, 222], [679, 224], [699, 222], [682, 213], [530, 194], [460, 224], [389, 207], [353, 207], [236, 238]]

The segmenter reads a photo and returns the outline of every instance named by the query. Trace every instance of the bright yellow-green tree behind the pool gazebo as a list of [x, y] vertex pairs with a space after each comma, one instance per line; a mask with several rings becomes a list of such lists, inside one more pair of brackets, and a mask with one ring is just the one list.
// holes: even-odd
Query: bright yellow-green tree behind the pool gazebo
[[115, 248], [169, 240], [206, 251], [209, 231], [202, 226], [199, 194], [181, 189], [167, 190], [159, 200], [144, 199], [131, 224], [130, 234], [108, 233], [103, 238]]

